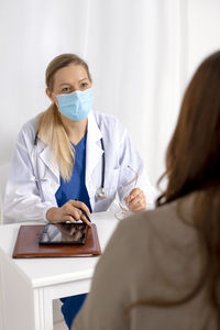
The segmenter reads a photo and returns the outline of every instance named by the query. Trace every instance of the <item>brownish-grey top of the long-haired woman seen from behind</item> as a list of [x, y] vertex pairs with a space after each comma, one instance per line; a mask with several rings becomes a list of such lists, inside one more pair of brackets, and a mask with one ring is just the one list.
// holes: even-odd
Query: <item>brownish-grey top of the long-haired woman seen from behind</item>
[[190, 224], [193, 200], [193, 196], [185, 197], [119, 223], [72, 329], [217, 329], [207, 287], [180, 306], [139, 306], [127, 314], [130, 304], [140, 299], [184, 298], [198, 283], [204, 254], [197, 231]]

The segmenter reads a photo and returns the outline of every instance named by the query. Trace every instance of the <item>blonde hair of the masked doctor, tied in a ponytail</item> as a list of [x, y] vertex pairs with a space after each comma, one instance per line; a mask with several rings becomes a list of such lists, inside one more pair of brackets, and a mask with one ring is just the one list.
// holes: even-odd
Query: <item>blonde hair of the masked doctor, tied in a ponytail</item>
[[[88, 65], [84, 59], [75, 54], [62, 54], [56, 56], [48, 64], [46, 69], [46, 87], [51, 92], [54, 88], [54, 76], [56, 72], [70, 64], [81, 65], [91, 81]], [[75, 153], [55, 103], [51, 105], [46, 111], [40, 114], [37, 132], [41, 141], [52, 148], [53, 161], [58, 164], [61, 176], [64, 180], [69, 180], [75, 162]]]

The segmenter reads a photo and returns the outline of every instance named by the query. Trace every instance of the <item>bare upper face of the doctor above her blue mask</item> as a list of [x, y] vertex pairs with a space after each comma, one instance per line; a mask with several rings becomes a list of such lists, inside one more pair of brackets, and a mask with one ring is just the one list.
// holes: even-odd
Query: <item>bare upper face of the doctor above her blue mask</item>
[[54, 87], [62, 84], [76, 84], [85, 78], [88, 79], [88, 74], [85, 67], [81, 65], [70, 64], [55, 73]]

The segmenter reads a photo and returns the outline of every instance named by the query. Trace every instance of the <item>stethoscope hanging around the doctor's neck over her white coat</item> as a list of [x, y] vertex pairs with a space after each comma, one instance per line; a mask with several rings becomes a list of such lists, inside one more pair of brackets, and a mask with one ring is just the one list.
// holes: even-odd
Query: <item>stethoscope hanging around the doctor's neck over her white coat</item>
[[[36, 182], [38, 184], [38, 183], [47, 180], [46, 176], [47, 176], [48, 168], [47, 168], [47, 166], [45, 166], [44, 175], [42, 177], [40, 177], [40, 175], [37, 175], [37, 142], [38, 142], [38, 134], [36, 132], [35, 138], [34, 138], [34, 148], [33, 148], [33, 154], [34, 154], [33, 174], [34, 174], [34, 182]], [[105, 146], [103, 146], [102, 138], [100, 139], [100, 143], [101, 143], [101, 150], [102, 150], [101, 186], [100, 186], [100, 188], [97, 189], [95, 196], [98, 200], [103, 200], [107, 198], [107, 194], [106, 194], [106, 189], [105, 189], [106, 157], [105, 157]]]

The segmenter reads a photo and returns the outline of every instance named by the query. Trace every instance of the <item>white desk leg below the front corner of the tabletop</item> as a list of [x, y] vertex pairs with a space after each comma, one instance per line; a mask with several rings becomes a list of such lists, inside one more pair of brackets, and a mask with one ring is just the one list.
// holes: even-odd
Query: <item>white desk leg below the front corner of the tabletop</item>
[[36, 330], [53, 330], [53, 299], [50, 287], [34, 289]]

